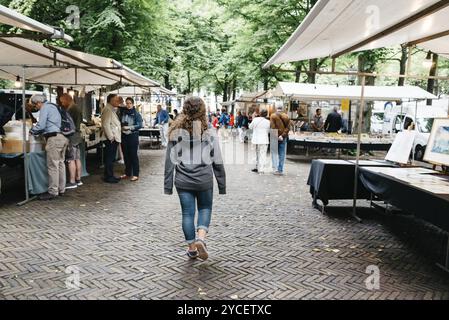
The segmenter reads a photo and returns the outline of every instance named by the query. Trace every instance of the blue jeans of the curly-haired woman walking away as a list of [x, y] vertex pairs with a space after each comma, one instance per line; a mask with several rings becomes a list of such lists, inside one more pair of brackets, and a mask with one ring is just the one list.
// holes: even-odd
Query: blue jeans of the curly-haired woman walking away
[[[207, 191], [178, 189], [178, 196], [182, 209], [182, 230], [187, 243], [192, 244], [196, 239], [196, 230], [209, 232], [214, 191], [213, 189]], [[197, 228], [195, 228], [195, 204], [198, 205]]]

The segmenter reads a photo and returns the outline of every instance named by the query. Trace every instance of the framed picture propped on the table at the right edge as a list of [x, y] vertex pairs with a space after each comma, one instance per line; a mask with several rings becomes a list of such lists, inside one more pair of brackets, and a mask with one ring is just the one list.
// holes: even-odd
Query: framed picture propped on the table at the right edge
[[449, 166], [449, 118], [435, 119], [424, 160]]

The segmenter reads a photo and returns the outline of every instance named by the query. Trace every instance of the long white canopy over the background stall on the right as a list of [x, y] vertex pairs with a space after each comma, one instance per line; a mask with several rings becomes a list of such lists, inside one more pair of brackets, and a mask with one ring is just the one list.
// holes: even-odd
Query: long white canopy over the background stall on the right
[[[273, 92], [275, 97], [288, 97], [298, 100], [360, 100], [361, 86], [336, 86], [280, 82]], [[395, 101], [438, 99], [433, 94], [413, 86], [405, 87], [365, 87], [365, 100]]]

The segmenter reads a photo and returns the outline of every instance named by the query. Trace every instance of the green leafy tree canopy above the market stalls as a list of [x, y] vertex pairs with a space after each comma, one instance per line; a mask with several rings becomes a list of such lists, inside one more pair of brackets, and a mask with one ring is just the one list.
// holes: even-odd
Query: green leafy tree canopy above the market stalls
[[[64, 27], [75, 41], [59, 45], [119, 60], [178, 92], [212, 92], [229, 100], [239, 90], [273, 87], [277, 81], [347, 82], [316, 76], [330, 61], [315, 59], [262, 65], [282, 46], [317, 0], [0, 0], [38, 21]], [[79, 28], [68, 19], [79, 9]], [[0, 26], [2, 32], [17, 30]], [[414, 51], [423, 59], [425, 53]], [[342, 57], [337, 67], [367, 72], [403, 72], [401, 47]], [[440, 59], [440, 71], [449, 63]], [[428, 74], [423, 68], [415, 71]], [[287, 71], [287, 72], [286, 72]], [[368, 84], [397, 84], [399, 79], [367, 79]], [[400, 85], [404, 83], [399, 82]], [[426, 83], [417, 82], [426, 87]], [[447, 91], [447, 84], [437, 90]]]

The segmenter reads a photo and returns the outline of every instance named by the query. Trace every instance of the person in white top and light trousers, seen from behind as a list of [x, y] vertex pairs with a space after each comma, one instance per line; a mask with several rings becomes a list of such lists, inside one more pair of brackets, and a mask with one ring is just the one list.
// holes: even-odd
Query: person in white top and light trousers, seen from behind
[[263, 110], [260, 117], [255, 118], [249, 128], [253, 131], [252, 144], [256, 147], [256, 164], [257, 168], [253, 170], [255, 173], [264, 173], [266, 167], [268, 145], [270, 143], [270, 120], [267, 119], [268, 111]]

